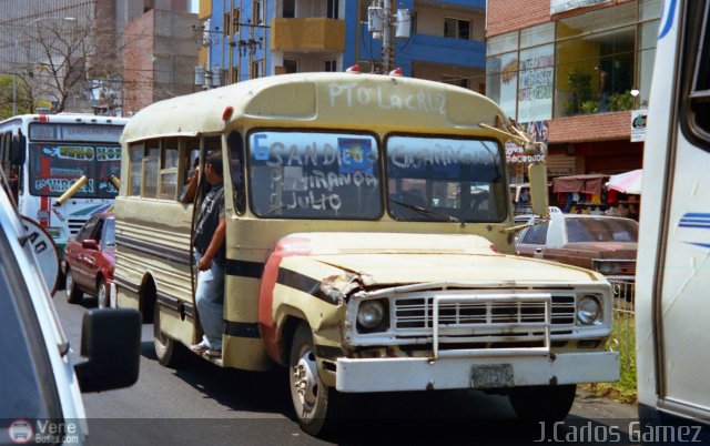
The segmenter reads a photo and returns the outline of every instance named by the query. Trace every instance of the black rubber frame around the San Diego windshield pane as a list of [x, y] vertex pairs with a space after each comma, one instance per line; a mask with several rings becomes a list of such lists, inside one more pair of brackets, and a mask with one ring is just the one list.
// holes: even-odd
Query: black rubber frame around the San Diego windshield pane
[[[338, 217], [338, 219], [333, 219], [332, 216], [324, 216], [324, 217], [316, 217], [313, 215], [310, 216], [283, 216], [283, 215], [261, 215], [258, 213], [256, 213], [254, 211], [254, 197], [253, 197], [253, 187], [252, 187], [252, 173], [251, 173], [251, 169], [252, 169], [252, 162], [251, 162], [251, 145], [250, 145], [250, 140], [253, 133], [256, 132], [280, 132], [280, 133], [326, 133], [326, 134], [362, 134], [362, 135], [368, 135], [372, 136], [375, 140], [375, 143], [377, 144], [377, 155], [379, 156], [379, 159], [377, 160], [377, 166], [379, 169], [379, 176], [377, 179], [377, 181], [379, 182], [379, 205], [381, 205], [381, 211], [376, 216], [373, 216], [371, 219], [364, 219], [364, 217], [357, 217], [357, 219], [346, 219], [346, 217]], [[358, 222], [358, 221], [364, 221], [364, 222], [376, 222], [382, 220], [382, 217], [386, 214], [386, 205], [385, 205], [385, 197], [384, 197], [384, 190], [385, 190], [385, 185], [383, 184], [383, 181], [385, 180], [383, 178], [383, 155], [382, 155], [382, 148], [383, 148], [383, 141], [379, 138], [379, 134], [377, 134], [376, 132], [369, 131], [369, 130], [355, 130], [355, 129], [324, 129], [324, 128], [312, 128], [312, 126], [288, 126], [288, 128], [277, 128], [277, 126], [254, 126], [248, 129], [248, 131], [246, 132], [245, 136], [244, 136], [244, 158], [246, 161], [246, 166], [244, 169], [245, 172], [245, 182], [247, 184], [246, 187], [246, 201], [248, 204], [248, 209], [250, 212], [256, 216], [260, 220], [290, 220], [290, 221], [307, 221], [307, 220], [314, 220], [314, 221], [337, 221], [337, 222]]]

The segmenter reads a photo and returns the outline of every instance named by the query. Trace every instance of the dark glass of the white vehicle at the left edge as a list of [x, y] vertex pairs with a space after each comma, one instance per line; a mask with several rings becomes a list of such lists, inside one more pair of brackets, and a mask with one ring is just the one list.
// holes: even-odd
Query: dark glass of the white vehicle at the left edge
[[[12, 252], [1, 226], [0, 250]], [[23, 276], [13, 255], [0, 255], [0, 419], [60, 418], [48, 346]]]

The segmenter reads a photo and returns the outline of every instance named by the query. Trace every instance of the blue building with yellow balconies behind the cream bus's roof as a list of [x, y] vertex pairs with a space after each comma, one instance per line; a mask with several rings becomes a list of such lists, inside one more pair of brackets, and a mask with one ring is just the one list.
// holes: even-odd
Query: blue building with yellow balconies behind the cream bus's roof
[[[395, 4], [395, 0], [392, 1]], [[373, 0], [201, 0], [210, 53], [201, 63], [222, 84], [308, 71], [382, 68], [382, 39], [367, 31]], [[400, 0], [410, 34], [396, 38], [404, 75], [485, 92], [485, 0]], [[395, 11], [393, 11], [393, 14]]]

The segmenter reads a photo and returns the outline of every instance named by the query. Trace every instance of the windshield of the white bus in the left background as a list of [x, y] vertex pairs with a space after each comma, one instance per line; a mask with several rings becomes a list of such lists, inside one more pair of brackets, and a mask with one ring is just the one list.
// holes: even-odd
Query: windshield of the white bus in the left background
[[77, 199], [113, 199], [118, 190], [111, 175], [121, 175], [121, 146], [91, 143], [31, 143], [29, 151], [30, 193], [60, 196], [78, 179], [87, 175]]

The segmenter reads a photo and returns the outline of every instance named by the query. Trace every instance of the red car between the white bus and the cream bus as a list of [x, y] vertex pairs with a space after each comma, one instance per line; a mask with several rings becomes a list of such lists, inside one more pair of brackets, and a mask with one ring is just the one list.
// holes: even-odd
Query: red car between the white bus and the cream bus
[[111, 306], [110, 286], [115, 266], [115, 219], [97, 214], [87, 221], [64, 251], [67, 301], [81, 303], [83, 294], [95, 296], [100, 308]]

